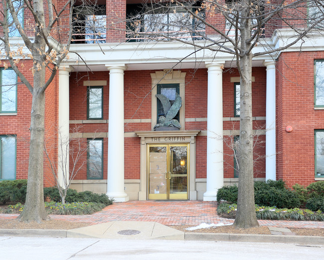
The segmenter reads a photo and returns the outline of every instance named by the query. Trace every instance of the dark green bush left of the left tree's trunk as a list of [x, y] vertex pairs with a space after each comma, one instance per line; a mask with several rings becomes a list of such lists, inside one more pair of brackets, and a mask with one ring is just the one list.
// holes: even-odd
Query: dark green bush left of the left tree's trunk
[[21, 202], [26, 200], [27, 180], [3, 180], [0, 181], [0, 203]]

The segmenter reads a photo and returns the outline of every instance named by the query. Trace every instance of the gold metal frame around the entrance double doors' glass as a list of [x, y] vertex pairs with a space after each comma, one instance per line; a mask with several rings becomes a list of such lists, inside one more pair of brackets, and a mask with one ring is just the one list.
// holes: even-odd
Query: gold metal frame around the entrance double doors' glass
[[[166, 193], [162, 194], [162, 193], [151, 193], [150, 194], [150, 147], [165, 147], [166, 148], [166, 171], [165, 171], [165, 179], [166, 179]], [[171, 177], [175, 177], [175, 176], [180, 176], [178, 174], [171, 174], [170, 171], [170, 147], [186, 147], [186, 175], [181, 174], [181, 176], [186, 176], [187, 178], [187, 183], [186, 183], [186, 189], [187, 192], [186, 193], [170, 193], [170, 179]], [[179, 144], [179, 143], [162, 143], [162, 144], [147, 144], [147, 191], [148, 191], [148, 199], [156, 199], [156, 200], [185, 200], [189, 198], [189, 173], [190, 173], [190, 151], [189, 151], [189, 147], [190, 144], [189, 143], [185, 143], [185, 144]]]

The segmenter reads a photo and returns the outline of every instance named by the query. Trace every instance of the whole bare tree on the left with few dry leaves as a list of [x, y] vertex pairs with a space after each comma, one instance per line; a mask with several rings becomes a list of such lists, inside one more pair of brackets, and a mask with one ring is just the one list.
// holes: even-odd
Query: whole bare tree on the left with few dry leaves
[[[59, 1], [58, 1], [59, 2]], [[67, 57], [72, 27], [60, 28], [61, 20], [71, 24], [74, 0], [54, 4], [52, 0], [2, 0], [0, 41], [10, 67], [32, 94], [27, 197], [20, 221], [48, 220], [43, 201], [43, 144], [45, 90], [53, 81], [61, 62]], [[30, 14], [22, 25], [21, 13]], [[60, 42], [64, 31], [66, 42]], [[68, 35], [68, 37], [66, 37]], [[20, 36], [23, 44], [12, 41]], [[32, 80], [23, 72], [23, 60], [32, 61]], [[4, 64], [4, 67], [9, 67]]]

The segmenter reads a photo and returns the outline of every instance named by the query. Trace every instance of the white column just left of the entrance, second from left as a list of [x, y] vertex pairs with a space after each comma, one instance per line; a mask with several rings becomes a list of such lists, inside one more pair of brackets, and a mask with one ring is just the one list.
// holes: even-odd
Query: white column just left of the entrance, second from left
[[125, 65], [106, 65], [109, 72], [107, 195], [128, 201], [124, 191], [124, 71]]

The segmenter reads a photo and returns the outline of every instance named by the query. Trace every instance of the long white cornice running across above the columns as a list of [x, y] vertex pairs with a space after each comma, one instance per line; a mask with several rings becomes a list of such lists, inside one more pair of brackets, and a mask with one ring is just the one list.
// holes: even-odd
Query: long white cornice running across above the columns
[[[293, 42], [297, 33], [291, 29], [277, 29], [271, 38], [260, 39], [259, 44], [253, 52], [263, 52], [273, 50], [287, 43]], [[30, 38], [33, 40], [32, 38]], [[57, 48], [61, 48], [58, 41], [49, 38], [50, 43]], [[208, 45], [210, 42], [197, 41], [201, 46]], [[22, 46], [23, 41], [19, 37], [10, 39], [10, 45]], [[230, 44], [227, 44], [230, 47]], [[93, 71], [106, 71], [105, 64], [114, 66], [125, 64], [127, 70], [157, 70], [157, 69], [188, 69], [205, 68], [208, 63], [223, 63], [225, 67], [235, 66], [233, 55], [222, 52], [197, 48], [182, 42], [129, 42], [129, 43], [105, 43], [105, 44], [72, 44], [70, 47], [70, 58], [66, 60], [67, 66], [72, 66], [75, 71], [86, 71], [87, 67], [79, 59], [78, 53], [86, 62], [88, 68]], [[313, 30], [308, 37], [303, 38], [294, 46], [277, 53], [258, 56], [253, 59], [253, 66], [264, 66], [264, 60], [274, 60], [282, 52], [295, 51], [324, 51], [324, 36], [318, 31]], [[194, 53], [194, 54], [193, 54]], [[191, 55], [190, 55], [191, 54]], [[184, 57], [186, 59], [182, 60]]]

